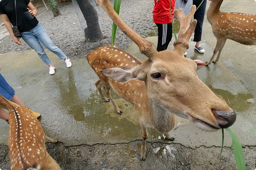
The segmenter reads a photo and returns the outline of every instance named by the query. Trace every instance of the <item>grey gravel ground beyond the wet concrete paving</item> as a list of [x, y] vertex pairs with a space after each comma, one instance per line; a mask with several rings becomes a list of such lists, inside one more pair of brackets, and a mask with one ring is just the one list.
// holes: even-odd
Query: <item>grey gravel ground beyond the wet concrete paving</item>
[[[113, 0], [111, 0], [113, 4]], [[125, 23], [131, 27], [140, 36], [146, 37], [152, 32], [155, 26], [153, 22], [152, 10], [154, 1], [148, 0], [126, 0], [122, 1], [120, 16]], [[44, 11], [41, 7], [38, 9]], [[61, 15], [54, 17], [51, 10], [48, 10], [37, 16], [38, 21], [45, 28], [46, 32], [69, 58], [85, 58], [86, 55], [100, 46], [109, 46], [111, 44], [112, 20], [99, 5], [97, 5], [98, 15], [102, 26], [105, 39], [97, 42], [88, 42], [85, 40], [83, 30], [80, 26], [78, 16], [76, 15], [73, 3], [60, 3], [59, 9]], [[23, 41], [22, 46], [14, 43], [11, 36], [5, 36], [0, 40], [0, 53], [25, 51], [31, 48]], [[115, 46], [121, 49], [127, 48], [132, 41], [117, 28]]]

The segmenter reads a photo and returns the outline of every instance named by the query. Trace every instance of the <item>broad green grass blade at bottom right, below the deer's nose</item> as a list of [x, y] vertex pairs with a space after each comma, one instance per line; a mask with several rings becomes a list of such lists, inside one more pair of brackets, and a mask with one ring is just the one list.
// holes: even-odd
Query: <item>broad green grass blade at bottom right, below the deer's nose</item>
[[233, 151], [236, 159], [237, 170], [246, 170], [244, 153], [236, 133], [230, 127], [226, 128], [226, 131], [229, 133], [230, 137], [232, 138], [232, 145], [233, 145]]

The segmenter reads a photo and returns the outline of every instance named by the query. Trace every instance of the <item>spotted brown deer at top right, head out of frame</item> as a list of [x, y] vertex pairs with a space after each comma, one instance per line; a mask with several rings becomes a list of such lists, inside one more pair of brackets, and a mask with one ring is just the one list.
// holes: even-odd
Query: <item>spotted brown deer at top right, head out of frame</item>
[[[219, 8], [223, 0], [210, 1], [211, 4], [207, 12], [207, 20], [212, 26], [212, 32], [217, 39], [217, 44], [207, 65], [211, 64], [211, 62], [218, 62], [227, 39], [237, 41], [244, 45], [256, 45], [256, 15], [221, 12]], [[218, 51], [218, 56], [214, 60]]]

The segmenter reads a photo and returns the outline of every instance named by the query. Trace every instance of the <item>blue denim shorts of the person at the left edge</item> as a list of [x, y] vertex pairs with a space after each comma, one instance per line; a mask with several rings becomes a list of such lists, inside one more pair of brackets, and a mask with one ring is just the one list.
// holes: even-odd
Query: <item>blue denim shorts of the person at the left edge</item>
[[4, 77], [0, 74], [0, 95], [4, 98], [11, 100], [15, 95], [13, 88], [5, 81]]

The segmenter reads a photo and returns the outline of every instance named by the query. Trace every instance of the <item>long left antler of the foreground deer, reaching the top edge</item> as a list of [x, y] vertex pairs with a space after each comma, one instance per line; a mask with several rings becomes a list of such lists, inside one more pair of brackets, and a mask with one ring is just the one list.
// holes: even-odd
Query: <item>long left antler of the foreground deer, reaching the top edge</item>
[[154, 44], [143, 39], [138, 33], [133, 31], [124, 21], [120, 18], [120, 16], [116, 13], [109, 0], [96, 0], [97, 3], [101, 6], [101, 8], [106, 11], [109, 17], [113, 20], [113, 22], [117, 25], [121, 31], [127, 35], [133, 42], [137, 44], [140, 49], [141, 54], [146, 55], [148, 58], [153, 57], [152, 53], [157, 52], [157, 49], [154, 47]]

